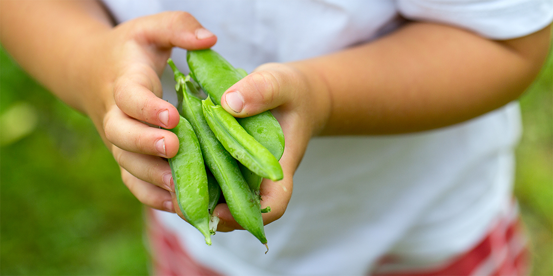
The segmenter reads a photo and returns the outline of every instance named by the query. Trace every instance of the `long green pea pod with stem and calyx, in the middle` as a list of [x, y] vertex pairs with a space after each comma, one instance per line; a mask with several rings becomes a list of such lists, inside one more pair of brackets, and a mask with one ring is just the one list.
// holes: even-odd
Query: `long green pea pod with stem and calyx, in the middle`
[[190, 121], [196, 132], [205, 163], [219, 183], [228, 209], [239, 225], [267, 246], [261, 208], [257, 197], [244, 181], [236, 159], [225, 150], [225, 147], [217, 140], [207, 124], [202, 112], [202, 100], [189, 92], [189, 90], [195, 89], [194, 84], [186, 81], [186, 76], [178, 71], [171, 60], [168, 63], [175, 73], [177, 94], [181, 99], [181, 115]]

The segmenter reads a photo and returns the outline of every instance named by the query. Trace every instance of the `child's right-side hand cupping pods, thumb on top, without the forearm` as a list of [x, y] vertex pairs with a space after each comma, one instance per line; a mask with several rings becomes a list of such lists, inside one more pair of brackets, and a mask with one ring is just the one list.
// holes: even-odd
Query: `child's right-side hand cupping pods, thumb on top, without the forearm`
[[[263, 214], [264, 224], [284, 214], [292, 194], [294, 172], [309, 140], [324, 128], [328, 118], [328, 94], [314, 94], [314, 91], [324, 91], [325, 87], [320, 86], [324, 82], [320, 82], [317, 75], [303, 73], [306, 70], [309, 68], [302, 68], [299, 63], [267, 63], [234, 84], [221, 98], [223, 108], [236, 117], [272, 109], [283, 129], [285, 148], [279, 162], [284, 178], [279, 182], [264, 179], [260, 187], [262, 208], [271, 208], [269, 213]], [[226, 205], [218, 205], [214, 212], [221, 219], [218, 231], [241, 229]]]

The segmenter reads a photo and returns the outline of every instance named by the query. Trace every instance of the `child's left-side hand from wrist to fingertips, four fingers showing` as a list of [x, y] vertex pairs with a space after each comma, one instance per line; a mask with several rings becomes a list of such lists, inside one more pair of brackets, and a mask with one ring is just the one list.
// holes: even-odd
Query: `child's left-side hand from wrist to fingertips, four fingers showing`
[[[161, 99], [159, 77], [172, 47], [203, 49], [216, 37], [190, 14], [166, 12], [138, 18], [98, 35], [84, 88], [84, 107], [121, 167], [123, 182], [145, 205], [175, 212], [169, 163], [179, 140], [171, 129], [176, 108]], [[150, 126], [153, 125], [154, 127]]]

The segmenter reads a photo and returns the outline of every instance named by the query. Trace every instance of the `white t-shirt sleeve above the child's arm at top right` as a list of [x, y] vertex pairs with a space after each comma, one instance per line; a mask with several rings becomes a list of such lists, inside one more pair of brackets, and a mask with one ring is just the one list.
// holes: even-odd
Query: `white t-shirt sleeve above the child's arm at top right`
[[398, 0], [399, 13], [464, 28], [486, 38], [529, 35], [553, 21], [553, 0]]

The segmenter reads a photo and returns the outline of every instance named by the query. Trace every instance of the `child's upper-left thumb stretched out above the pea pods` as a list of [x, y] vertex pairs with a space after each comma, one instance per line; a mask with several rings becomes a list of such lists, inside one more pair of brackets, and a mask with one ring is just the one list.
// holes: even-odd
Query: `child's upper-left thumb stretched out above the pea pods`
[[144, 43], [161, 48], [206, 49], [217, 42], [217, 36], [187, 12], [162, 12], [136, 22]]

